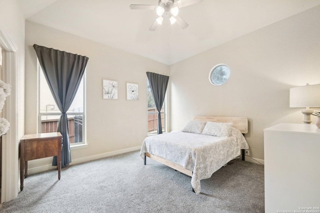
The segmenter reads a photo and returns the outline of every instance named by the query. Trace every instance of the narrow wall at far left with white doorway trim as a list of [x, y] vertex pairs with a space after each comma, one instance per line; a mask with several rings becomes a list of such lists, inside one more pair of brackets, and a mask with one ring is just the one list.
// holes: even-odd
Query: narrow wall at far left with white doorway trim
[[2, 137], [1, 203], [18, 194], [18, 141], [24, 134], [24, 17], [17, 0], [0, 0], [3, 81], [11, 85], [2, 116], [10, 129]]

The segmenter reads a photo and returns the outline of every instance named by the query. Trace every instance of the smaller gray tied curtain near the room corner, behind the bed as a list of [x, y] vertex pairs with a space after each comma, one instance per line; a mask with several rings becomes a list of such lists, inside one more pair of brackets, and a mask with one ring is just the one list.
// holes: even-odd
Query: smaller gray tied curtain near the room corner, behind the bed
[[146, 72], [148, 81], [150, 84], [151, 93], [153, 95], [154, 104], [158, 111], [158, 124], [157, 124], [157, 134], [162, 134], [162, 125], [161, 125], [161, 108], [163, 106], [166, 87], [168, 85], [169, 76], [160, 75], [153, 72]]

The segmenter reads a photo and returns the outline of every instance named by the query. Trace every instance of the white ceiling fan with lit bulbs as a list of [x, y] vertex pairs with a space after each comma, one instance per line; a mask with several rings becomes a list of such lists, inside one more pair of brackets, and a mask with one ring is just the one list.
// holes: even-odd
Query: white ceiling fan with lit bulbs
[[130, 4], [130, 8], [156, 10], [158, 17], [149, 28], [150, 31], [154, 31], [157, 25], [162, 24], [163, 16], [169, 17], [171, 24], [176, 22], [182, 29], [185, 29], [188, 27], [188, 24], [178, 15], [179, 8], [201, 1], [202, 0], [159, 0], [158, 5]]

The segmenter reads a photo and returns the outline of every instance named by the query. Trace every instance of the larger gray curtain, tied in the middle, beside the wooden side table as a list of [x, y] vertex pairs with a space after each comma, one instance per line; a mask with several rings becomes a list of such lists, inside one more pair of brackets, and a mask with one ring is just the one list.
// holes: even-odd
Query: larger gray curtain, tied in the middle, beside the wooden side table
[[[60, 132], [63, 137], [61, 167], [65, 167], [71, 162], [66, 112], [79, 87], [88, 58], [36, 44], [33, 47], [55, 103], [61, 112], [57, 132]], [[53, 157], [52, 166], [56, 166], [56, 156]]]

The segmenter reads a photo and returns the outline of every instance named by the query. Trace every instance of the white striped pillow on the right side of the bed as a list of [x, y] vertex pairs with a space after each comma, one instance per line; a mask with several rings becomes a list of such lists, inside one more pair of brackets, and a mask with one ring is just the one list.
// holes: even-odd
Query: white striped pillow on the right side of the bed
[[232, 123], [206, 122], [202, 135], [212, 135], [218, 137], [229, 137], [231, 134]]

